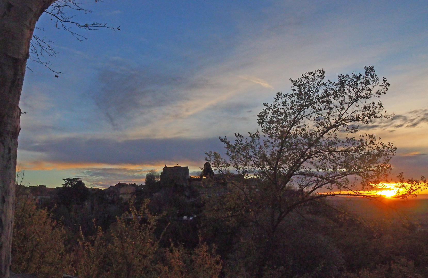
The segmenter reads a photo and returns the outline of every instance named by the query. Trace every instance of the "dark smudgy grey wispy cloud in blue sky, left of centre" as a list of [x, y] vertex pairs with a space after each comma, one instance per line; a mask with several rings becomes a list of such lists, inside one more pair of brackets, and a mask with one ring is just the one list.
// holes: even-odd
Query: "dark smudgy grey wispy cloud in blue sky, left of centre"
[[98, 70], [96, 87], [90, 96], [100, 114], [112, 124], [130, 120], [153, 108], [169, 105], [180, 99], [183, 77], [162, 75], [114, 61]]

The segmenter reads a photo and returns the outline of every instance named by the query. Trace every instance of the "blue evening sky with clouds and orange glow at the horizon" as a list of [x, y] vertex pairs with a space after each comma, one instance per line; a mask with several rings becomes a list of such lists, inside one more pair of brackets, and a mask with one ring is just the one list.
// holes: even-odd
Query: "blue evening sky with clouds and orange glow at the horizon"
[[[327, 78], [374, 65], [391, 84], [395, 118], [371, 126], [397, 146], [393, 173], [428, 176], [428, 5], [425, 1], [82, 1], [74, 19], [120, 30], [77, 30], [48, 15], [35, 34], [59, 52], [58, 78], [28, 62], [20, 107], [23, 183], [56, 187], [143, 183], [148, 170], [224, 152], [219, 136], [255, 132], [263, 102], [290, 78]], [[43, 29], [43, 30], [42, 30]]]

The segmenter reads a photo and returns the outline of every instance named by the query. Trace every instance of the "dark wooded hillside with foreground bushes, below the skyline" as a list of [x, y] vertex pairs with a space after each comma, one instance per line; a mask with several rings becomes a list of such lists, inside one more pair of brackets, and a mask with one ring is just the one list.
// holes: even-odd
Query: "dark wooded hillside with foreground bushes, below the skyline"
[[263, 221], [254, 215], [262, 211], [249, 211], [236, 190], [256, 179], [205, 176], [162, 185], [149, 175], [145, 185], [104, 190], [80, 179], [56, 188], [18, 185], [12, 270], [39, 277], [428, 275], [426, 223], [418, 219], [396, 212], [364, 218], [341, 202], [314, 201], [289, 214], [264, 249], [266, 233], [254, 221]]

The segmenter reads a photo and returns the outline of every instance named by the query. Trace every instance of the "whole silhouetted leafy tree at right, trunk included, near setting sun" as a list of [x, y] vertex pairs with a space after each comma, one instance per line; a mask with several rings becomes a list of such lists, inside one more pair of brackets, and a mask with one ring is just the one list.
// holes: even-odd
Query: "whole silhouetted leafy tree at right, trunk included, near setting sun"
[[[267, 269], [279, 267], [275, 250], [285, 240], [285, 219], [329, 196], [315, 194], [319, 190], [356, 190], [357, 184], [370, 189], [388, 177], [396, 148], [374, 134], [362, 135], [359, 127], [388, 117], [375, 99], [386, 94], [389, 83], [379, 81], [374, 67], [365, 69], [365, 74], [341, 74], [338, 82], [325, 81], [324, 70], [291, 79], [290, 93], [277, 93], [273, 103], [264, 103], [260, 131], [249, 132], [249, 138], [235, 134], [234, 143], [220, 138], [228, 161], [207, 153], [207, 161], [223, 173], [232, 167], [242, 174], [229, 191], [231, 205], [223, 206], [219, 217], [241, 215], [252, 223], [249, 236], [256, 241], [247, 254], [256, 254], [257, 267], [250, 276], [262, 278]], [[244, 179], [248, 175], [256, 176], [256, 184]]]

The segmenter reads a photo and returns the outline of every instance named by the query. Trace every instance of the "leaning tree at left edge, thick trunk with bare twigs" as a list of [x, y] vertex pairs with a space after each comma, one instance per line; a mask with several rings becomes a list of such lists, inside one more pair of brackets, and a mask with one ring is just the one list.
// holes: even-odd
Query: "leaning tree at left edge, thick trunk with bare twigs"
[[[95, 0], [95, 2], [97, 2]], [[101, 2], [101, 1], [100, 1]], [[0, 1], [0, 277], [9, 277], [12, 225], [15, 198], [15, 170], [18, 135], [21, 130], [21, 97], [27, 59], [48, 66], [40, 58], [56, 51], [50, 41], [33, 35], [36, 22], [46, 13], [55, 27], [65, 29], [79, 40], [83, 36], [71, 30], [71, 26], [94, 30], [109, 27], [105, 23], [78, 23], [74, 14], [68, 12], [91, 12], [74, 0], [1, 0]], [[56, 76], [57, 77], [57, 76]]]

